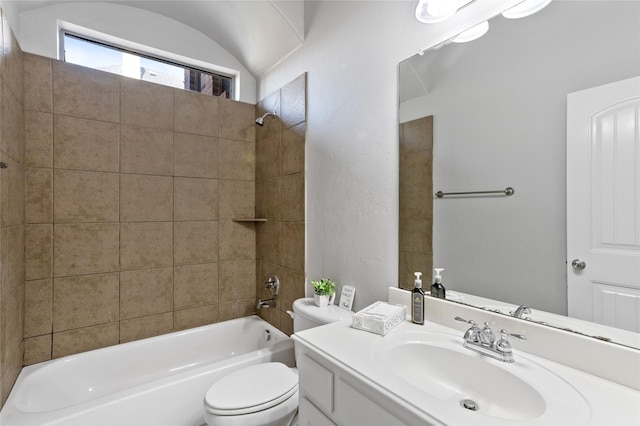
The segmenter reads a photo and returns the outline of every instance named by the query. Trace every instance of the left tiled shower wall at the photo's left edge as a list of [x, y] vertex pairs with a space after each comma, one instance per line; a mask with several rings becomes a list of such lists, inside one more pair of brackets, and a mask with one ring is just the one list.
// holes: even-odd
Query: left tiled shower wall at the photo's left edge
[[[0, 14], [2, 12], [0, 11]], [[23, 53], [2, 15], [0, 31], [0, 407], [22, 368], [24, 307]]]

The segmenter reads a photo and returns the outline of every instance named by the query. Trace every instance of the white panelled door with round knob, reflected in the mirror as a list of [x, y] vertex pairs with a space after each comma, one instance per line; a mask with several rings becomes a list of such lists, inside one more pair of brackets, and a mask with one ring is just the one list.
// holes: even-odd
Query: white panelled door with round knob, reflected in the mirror
[[640, 77], [567, 98], [569, 316], [640, 331]]

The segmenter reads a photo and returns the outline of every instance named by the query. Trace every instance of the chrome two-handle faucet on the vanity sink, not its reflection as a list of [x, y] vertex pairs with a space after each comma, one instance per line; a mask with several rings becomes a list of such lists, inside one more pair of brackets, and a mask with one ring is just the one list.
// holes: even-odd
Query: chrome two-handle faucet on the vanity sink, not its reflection
[[473, 320], [467, 321], [460, 317], [456, 317], [455, 320], [471, 324], [471, 327], [464, 333], [463, 346], [465, 348], [503, 362], [514, 362], [511, 343], [509, 343], [508, 340], [509, 336], [520, 340], [527, 340], [524, 335], [509, 333], [505, 329], [500, 330], [500, 339], [496, 340], [488, 322], [484, 323], [484, 328], [480, 328]]

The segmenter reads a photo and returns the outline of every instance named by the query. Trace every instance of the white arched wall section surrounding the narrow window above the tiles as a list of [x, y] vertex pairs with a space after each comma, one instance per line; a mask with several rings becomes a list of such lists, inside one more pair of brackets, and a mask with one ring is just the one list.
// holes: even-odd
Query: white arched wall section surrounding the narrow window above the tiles
[[[0, 5], [10, 10], [10, 3]], [[14, 26], [20, 47], [25, 52], [57, 59], [59, 21], [175, 55], [167, 59], [192, 58], [236, 70], [240, 79], [238, 100], [256, 103], [255, 78], [227, 50], [201, 32], [178, 21], [134, 7], [100, 2], [73, 2], [25, 11], [19, 15], [17, 25]], [[193, 65], [198, 65], [198, 62]]]

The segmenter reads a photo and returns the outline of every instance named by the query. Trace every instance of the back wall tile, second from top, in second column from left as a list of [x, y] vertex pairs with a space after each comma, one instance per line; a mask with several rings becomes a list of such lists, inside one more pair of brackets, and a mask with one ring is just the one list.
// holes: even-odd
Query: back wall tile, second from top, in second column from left
[[53, 118], [53, 162], [56, 168], [117, 172], [120, 126], [98, 120]]

